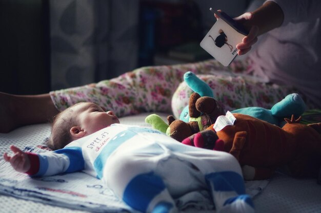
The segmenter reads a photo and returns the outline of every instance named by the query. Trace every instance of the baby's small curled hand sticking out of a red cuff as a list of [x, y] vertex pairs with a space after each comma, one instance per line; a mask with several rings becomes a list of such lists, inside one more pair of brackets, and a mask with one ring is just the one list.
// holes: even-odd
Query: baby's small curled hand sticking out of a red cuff
[[10, 149], [13, 152], [13, 155], [9, 156], [7, 153], [5, 153], [5, 161], [9, 162], [17, 172], [28, 172], [28, 170], [30, 169], [30, 160], [28, 155], [14, 145], [11, 145]]

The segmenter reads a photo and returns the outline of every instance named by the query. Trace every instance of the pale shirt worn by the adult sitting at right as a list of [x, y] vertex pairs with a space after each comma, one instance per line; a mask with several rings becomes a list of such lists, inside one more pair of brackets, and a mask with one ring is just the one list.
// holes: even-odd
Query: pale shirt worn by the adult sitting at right
[[297, 88], [321, 108], [321, 1], [269, 1], [282, 8], [284, 22], [259, 37], [250, 53], [254, 74]]

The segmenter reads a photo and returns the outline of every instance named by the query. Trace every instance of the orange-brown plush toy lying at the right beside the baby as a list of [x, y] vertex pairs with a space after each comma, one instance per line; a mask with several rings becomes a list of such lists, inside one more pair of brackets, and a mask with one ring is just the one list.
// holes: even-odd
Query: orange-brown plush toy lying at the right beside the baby
[[[243, 168], [246, 180], [266, 179], [275, 169], [286, 166], [294, 177], [317, 177], [321, 165], [321, 123], [300, 124], [298, 119], [285, 119], [282, 129], [254, 117], [233, 114], [236, 121], [220, 131], [213, 125], [206, 131], [186, 138], [182, 143], [204, 146], [204, 141], [222, 142], [222, 151], [232, 154]], [[208, 142], [207, 142], [208, 143]]]

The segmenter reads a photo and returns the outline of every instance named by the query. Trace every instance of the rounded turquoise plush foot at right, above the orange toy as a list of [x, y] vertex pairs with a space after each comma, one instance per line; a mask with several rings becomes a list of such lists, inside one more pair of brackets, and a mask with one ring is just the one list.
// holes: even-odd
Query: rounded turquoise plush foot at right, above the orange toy
[[304, 113], [306, 110], [306, 104], [304, 100], [296, 93], [287, 95], [283, 100], [276, 103], [272, 109], [271, 113], [277, 117], [288, 117], [294, 114], [298, 117]]

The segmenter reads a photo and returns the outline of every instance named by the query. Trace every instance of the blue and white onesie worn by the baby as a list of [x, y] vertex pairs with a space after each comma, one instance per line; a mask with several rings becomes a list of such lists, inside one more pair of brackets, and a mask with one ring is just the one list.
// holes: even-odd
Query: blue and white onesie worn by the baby
[[254, 211], [232, 155], [188, 146], [148, 127], [112, 124], [61, 150], [28, 155], [27, 174], [82, 170], [142, 212], [177, 212], [175, 198], [204, 189], [217, 212]]

